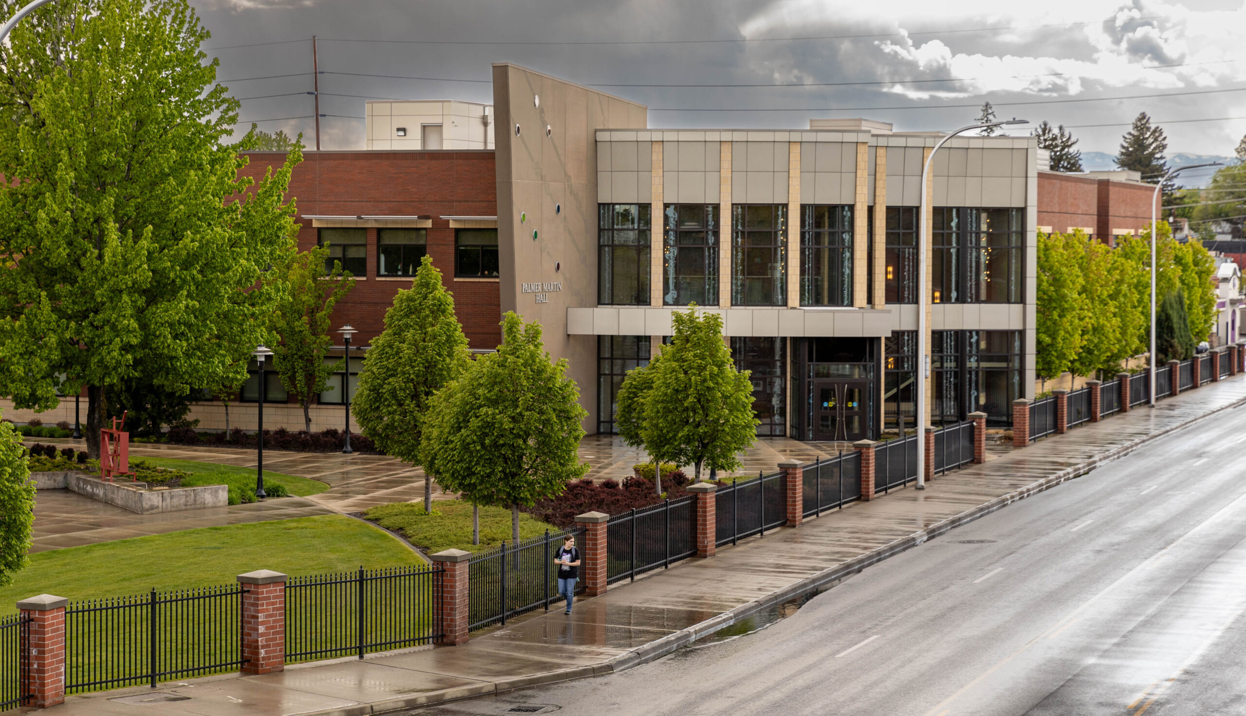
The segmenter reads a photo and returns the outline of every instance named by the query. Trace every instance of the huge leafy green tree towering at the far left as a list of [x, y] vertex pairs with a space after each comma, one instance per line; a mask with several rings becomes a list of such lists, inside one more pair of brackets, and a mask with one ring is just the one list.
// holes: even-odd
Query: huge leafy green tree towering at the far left
[[222, 357], [268, 336], [302, 152], [239, 177], [207, 37], [187, 0], [67, 0], [0, 46], [0, 395], [49, 410], [86, 386], [93, 457], [111, 391], [240, 377]]

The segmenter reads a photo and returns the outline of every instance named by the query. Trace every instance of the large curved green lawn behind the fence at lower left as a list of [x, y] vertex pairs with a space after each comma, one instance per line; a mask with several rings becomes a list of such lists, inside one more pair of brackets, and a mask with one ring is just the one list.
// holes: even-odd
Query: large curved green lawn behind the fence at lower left
[[392, 535], [340, 514], [187, 529], [35, 553], [0, 588], [0, 614], [36, 594], [122, 596], [229, 584], [257, 569], [302, 575], [419, 562]]

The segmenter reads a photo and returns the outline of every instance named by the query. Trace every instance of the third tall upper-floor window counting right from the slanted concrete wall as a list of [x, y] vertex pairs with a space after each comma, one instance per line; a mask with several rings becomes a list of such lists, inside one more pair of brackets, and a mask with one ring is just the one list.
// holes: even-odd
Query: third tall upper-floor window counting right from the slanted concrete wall
[[731, 305], [787, 304], [787, 204], [731, 207]]

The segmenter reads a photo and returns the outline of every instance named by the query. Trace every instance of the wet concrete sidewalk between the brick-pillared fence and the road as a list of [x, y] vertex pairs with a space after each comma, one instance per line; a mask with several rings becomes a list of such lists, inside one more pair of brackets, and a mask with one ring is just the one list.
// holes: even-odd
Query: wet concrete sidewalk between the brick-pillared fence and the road
[[[779, 528], [582, 600], [573, 616], [536, 613], [477, 633], [470, 644], [344, 660], [282, 674], [171, 682], [72, 696], [54, 714], [379, 714], [536, 684], [617, 671], [669, 654], [760, 609], [831, 586], [1197, 420], [1240, 420], [1246, 380], [1236, 376], [1129, 413], [1052, 436], [984, 464], [948, 473], [928, 489]], [[1224, 412], [1221, 412], [1224, 411]], [[781, 554], [782, 559], [775, 555]], [[168, 701], [162, 701], [171, 695]], [[146, 695], [146, 696], [141, 696]], [[138, 696], [146, 700], [135, 705]], [[188, 697], [173, 701], [172, 699]], [[122, 702], [125, 699], [127, 702]]]

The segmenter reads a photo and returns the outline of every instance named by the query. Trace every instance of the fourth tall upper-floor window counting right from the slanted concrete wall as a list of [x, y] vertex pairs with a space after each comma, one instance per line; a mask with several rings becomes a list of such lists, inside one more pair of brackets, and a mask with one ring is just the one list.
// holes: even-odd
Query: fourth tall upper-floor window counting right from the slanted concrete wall
[[852, 207], [800, 208], [800, 305], [852, 305]]

